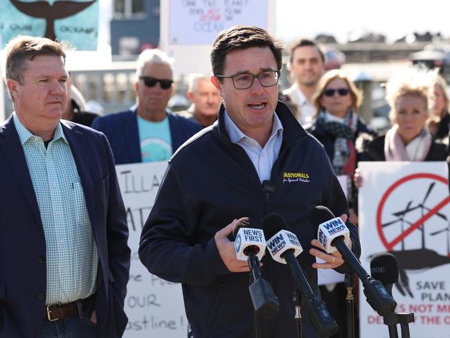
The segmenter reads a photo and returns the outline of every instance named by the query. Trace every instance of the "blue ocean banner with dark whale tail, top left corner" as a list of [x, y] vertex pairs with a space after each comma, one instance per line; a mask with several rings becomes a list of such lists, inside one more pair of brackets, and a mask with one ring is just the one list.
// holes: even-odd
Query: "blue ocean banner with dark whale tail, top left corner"
[[1, 0], [1, 47], [12, 37], [31, 35], [70, 42], [78, 51], [95, 51], [98, 0]]

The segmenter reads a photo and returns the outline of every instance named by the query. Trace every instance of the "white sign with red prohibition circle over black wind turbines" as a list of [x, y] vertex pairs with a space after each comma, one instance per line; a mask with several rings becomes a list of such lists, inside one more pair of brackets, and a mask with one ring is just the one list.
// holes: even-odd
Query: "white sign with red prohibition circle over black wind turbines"
[[[450, 336], [450, 197], [444, 162], [360, 162], [361, 264], [375, 253], [397, 258], [397, 312], [413, 312], [411, 338]], [[361, 338], [389, 337], [360, 285]]]

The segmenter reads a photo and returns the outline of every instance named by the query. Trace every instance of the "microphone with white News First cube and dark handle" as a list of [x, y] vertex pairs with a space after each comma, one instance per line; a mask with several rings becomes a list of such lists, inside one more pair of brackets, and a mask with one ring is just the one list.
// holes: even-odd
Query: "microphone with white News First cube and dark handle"
[[264, 256], [266, 240], [262, 229], [251, 228], [249, 218], [241, 219], [235, 229], [235, 251], [238, 260], [249, 264], [253, 283], [249, 286], [251, 301], [255, 313], [260, 317], [271, 319], [280, 310], [280, 303], [272, 286], [261, 277], [260, 259]]

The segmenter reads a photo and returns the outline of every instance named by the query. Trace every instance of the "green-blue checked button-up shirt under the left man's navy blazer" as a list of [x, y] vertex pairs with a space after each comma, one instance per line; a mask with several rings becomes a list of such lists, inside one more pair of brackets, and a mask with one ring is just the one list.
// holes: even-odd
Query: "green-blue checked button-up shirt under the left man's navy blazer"
[[44, 226], [46, 304], [84, 299], [96, 290], [98, 253], [71, 147], [61, 124], [46, 149], [13, 118]]

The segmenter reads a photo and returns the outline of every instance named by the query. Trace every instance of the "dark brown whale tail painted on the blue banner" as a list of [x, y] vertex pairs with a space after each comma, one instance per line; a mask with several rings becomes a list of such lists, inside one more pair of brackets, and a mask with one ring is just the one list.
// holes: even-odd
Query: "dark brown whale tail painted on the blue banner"
[[78, 1], [55, 1], [53, 5], [47, 1], [22, 2], [19, 0], [10, 0], [11, 3], [21, 12], [30, 17], [37, 17], [46, 19], [46, 28], [44, 37], [55, 40], [55, 20], [71, 17], [72, 15], [81, 12], [85, 8], [91, 6], [97, 0], [90, 0], [84, 2]]

